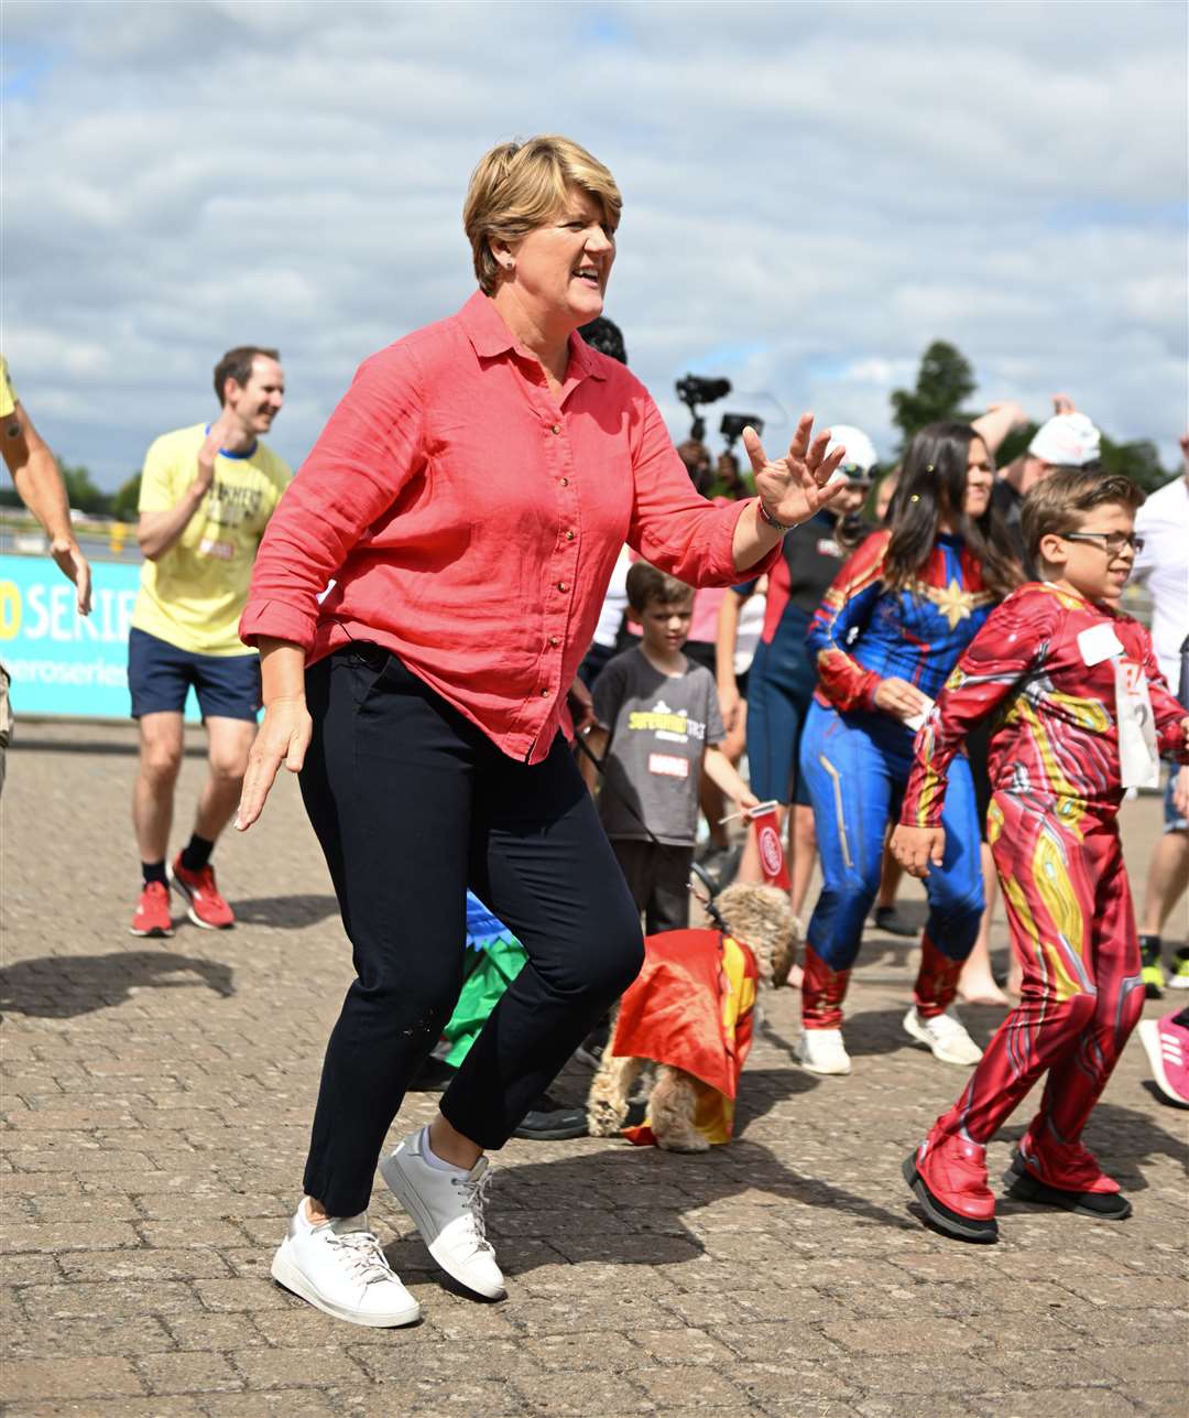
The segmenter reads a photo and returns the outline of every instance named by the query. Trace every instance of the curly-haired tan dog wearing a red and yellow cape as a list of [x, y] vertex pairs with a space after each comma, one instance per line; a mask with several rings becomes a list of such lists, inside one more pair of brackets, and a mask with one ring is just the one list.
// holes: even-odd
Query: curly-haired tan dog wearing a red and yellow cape
[[[755, 994], [781, 986], [796, 954], [788, 895], [733, 885], [707, 910], [716, 929], [645, 940], [645, 966], [619, 1012], [587, 1102], [592, 1137], [624, 1133], [669, 1151], [730, 1140], [738, 1075], [751, 1046]], [[624, 1127], [633, 1085], [652, 1068], [648, 1119]]]

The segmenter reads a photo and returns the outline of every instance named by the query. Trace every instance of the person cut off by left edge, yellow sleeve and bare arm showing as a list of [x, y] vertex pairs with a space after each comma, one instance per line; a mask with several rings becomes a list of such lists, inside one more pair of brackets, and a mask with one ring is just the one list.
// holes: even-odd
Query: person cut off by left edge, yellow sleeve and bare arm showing
[[[17, 496], [41, 523], [50, 539], [50, 556], [62, 576], [78, 590], [78, 614], [91, 614], [91, 566], [78, 547], [71, 527], [67, 488], [54, 454], [33, 427], [24, 404], [9, 377], [9, 362], [0, 354], [0, 454], [13, 475]], [[0, 665], [0, 788], [4, 787], [4, 757], [13, 732], [9, 706], [9, 672]]]

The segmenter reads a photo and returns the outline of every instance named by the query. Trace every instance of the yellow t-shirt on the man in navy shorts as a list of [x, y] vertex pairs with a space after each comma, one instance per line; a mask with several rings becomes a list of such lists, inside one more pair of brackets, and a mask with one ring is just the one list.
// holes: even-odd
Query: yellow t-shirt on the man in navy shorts
[[[167, 512], [198, 475], [207, 428], [179, 428], [149, 448], [140, 475], [140, 510]], [[140, 570], [132, 624], [198, 655], [254, 654], [240, 640], [252, 563], [289, 465], [257, 441], [245, 454], [220, 452], [214, 482], [177, 542]]]

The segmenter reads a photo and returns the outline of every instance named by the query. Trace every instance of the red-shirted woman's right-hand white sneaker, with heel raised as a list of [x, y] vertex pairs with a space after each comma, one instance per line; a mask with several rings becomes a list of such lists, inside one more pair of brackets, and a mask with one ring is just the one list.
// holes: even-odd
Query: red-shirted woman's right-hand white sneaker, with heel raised
[[468, 1290], [499, 1300], [507, 1292], [496, 1252], [483, 1228], [483, 1201], [492, 1173], [480, 1157], [470, 1171], [434, 1167], [425, 1160], [425, 1134], [411, 1133], [380, 1163], [380, 1176], [417, 1222], [429, 1255]]

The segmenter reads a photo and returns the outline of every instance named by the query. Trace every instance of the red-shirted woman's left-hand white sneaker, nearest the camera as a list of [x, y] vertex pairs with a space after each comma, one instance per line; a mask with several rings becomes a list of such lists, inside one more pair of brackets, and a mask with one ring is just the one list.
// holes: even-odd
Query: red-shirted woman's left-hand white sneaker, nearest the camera
[[272, 1258], [272, 1278], [349, 1324], [387, 1327], [421, 1319], [421, 1306], [367, 1229], [367, 1212], [315, 1225], [302, 1202]]

